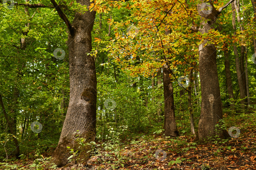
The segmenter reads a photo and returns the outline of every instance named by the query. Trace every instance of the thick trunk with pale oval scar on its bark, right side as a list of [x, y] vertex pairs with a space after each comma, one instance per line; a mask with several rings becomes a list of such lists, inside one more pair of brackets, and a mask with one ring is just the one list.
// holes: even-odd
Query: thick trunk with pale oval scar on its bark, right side
[[[209, 14], [203, 13], [201, 4], [198, 4], [198, 14], [202, 16], [203, 28], [199, 28], [200, 33], [208, 33], [210, 29], [214, 29], [213, 24], [216, 23], [218, 17], [217, 11], [211, 3], [212, 11]], [[206, 18], [210, 18], [207, 21]], [[218, 80], [217, 64], [216, 64], [216, 48], [214, 44], [208, 44], [208, 40], [204, 40], [199, 45], [199, 76], [202, 92], [201, 115], [198, 123], [198, 138], [205, 139], [214, 135], [222, 135], [215, 131], [215, 125], [222, 119], [222, 102], [220, 96], [220, 86]]]

